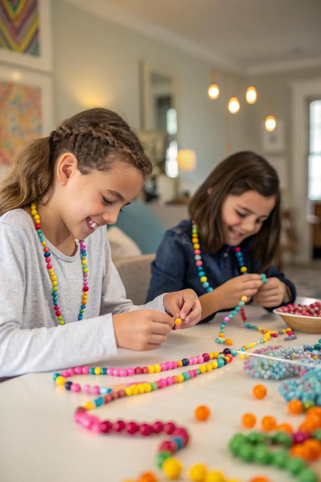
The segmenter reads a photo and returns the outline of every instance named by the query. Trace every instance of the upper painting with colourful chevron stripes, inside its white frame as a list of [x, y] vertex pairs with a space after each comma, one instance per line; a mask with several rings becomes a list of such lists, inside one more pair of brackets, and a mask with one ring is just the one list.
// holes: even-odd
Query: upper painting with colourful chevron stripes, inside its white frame
[[0, 47], [39, 56], [38, 0], [0, 1]]

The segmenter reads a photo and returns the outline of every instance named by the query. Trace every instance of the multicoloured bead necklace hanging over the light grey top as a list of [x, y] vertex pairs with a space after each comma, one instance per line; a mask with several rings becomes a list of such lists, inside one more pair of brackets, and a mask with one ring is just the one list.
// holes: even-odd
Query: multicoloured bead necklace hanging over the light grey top
[[[39, 240], [40, 240], [40, 242], [43, 246], [44, 257], [45, 257], [45, 260], [46, 260], [46, 263], [47, 263], [47, 269], [49, 271], [50, 278], [51, 278], [51, 283], [52, 283], [51, 296], [52, 296], [52, 302], [53, 302], [53, 309], [55, 310], [55, 315], [57, 317], [57, 320], [59, 321], [59, 324], [64, 325], [63, 315], [62, 315], [62, 313], [60, 311], [60, 308], [59, 308], [59, 305], [58, 305], [58, 297], [57, 297], [58, 281], [57, 281], [57, 277], [56, 277], [56, 275], [55, 275], [55, 273], [52, 269], [51, 258], [50, 258], [51, 253], [49, 251], [49, 248], [46, 247], [46, 241], [43, 240], [43, 234], [42, 234], [41, 226], [40, 226], [40, 216], [37, 212], [37, 208], [36, 208], [35, 203], [31, 204], [31, 214], [34, 216], [35, 228], [36, 228]], [[73, 240], [76, 244], [76, 239], [74, 237], [73, 237]], [[86, 259], [86, 256], [87, 256], [86, 245], [85, 245], [83, 240], [79, 240], [79, 245], [80, 245], [80, 253], [81, 253], [81, 265], [82, 265], [83, 285], [84, 286], [82, 288], [83, 293], [82, 293], [82, 296], [81, 296], [81, 305], [80, 305], [80, 309], [79, 309], [79, 313], [78, 313], [78, 320], [82, 320], [83, 312], [84, 312], [84, 310], [86, 308], [86, 304], [87, 304], [87, 293], [88, 293], [89, 287], [88, 287], [88, 281], [87, 281], [88, 268], [87, 268], [87, 259]]]

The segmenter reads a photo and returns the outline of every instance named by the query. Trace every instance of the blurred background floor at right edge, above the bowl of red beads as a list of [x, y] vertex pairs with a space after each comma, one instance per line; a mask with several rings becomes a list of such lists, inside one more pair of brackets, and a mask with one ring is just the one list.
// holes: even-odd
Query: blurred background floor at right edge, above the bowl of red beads
[[321, 299], [321, 259], [309, 266], [288, 265], [282, 270], [295, 284], [298, 296]]

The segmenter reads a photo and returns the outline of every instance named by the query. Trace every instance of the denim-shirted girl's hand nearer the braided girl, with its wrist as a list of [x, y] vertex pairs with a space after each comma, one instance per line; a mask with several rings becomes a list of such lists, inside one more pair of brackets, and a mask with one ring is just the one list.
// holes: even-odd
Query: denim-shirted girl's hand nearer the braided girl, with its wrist
[[249, 301], [262, 285], [259, 274], [244, 274], [226, 281], [212, 293], [218, 298], [218, 307], [221, 310], [237, 306], [241, 296], [247, 296]]

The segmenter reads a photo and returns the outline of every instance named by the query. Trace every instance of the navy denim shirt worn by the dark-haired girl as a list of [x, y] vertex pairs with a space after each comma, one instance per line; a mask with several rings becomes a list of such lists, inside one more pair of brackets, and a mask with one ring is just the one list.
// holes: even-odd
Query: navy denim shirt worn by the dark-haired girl
[[[207, 293], [197, 274], [191, 233], [192, 221], [190, 220], [181, 221], [178, 226], [166, 231], [157, 250], [156, 259], [152, 264], [152, 279], [146, 301], [151, 301], [162, 293], [180, 291], [186, 288], [192, 288], [197, 296]], [[202, 240], [200, 240], [200, 243], [202, 243]], [[259, 266], [254, 263], [253, 255], [251, 255], [250, 238], [245, 239], [240, 244], [240, 248], [248, 272], [259, 273]], [[240, 276], [240, 268], [233, 246], [224, 245], [216, 253], [206, 253], [202, 250], [201, 245], [201, 251], [205, 276], [209, 285], [214, 289], [231, 280], [231, 278]], [[274, 265], [270, 267], [268, 277], [279, 278], [287, 284], [292, 294], [290, 303], [295, 301], [294, 284], [287, 280]], [[273, 308], [268, 309], [270, 311]], [[213, 314], [203, 321], [209, 321], [214, 316]]]

